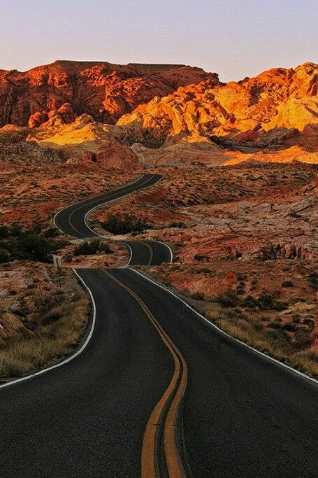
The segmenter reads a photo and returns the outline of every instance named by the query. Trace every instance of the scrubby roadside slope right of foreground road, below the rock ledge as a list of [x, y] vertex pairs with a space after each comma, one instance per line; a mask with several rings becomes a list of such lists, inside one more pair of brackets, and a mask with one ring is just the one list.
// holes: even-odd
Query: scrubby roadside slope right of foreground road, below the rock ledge
[[[317, 260], [223, 259], [162, 265], [152, 273], [224, 332], [317, 378], [317, 267]], [[226, 290], [229, 270], [236, 276], [232, 290]]]

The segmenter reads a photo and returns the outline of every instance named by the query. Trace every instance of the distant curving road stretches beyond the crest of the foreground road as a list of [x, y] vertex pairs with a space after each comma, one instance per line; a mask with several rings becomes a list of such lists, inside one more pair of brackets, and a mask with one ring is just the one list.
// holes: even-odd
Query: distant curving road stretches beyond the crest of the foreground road
[[[108, 202], [120, 199], [138, 190], [149, 188], [160, 181], [160, 174], [143, 174], [136, 181], [101, 195], [85, 199], [59, 211], [54, 218], [55, 225], [68, 236], [77, 239], [99, 237], [87, 225], [86, 216], [89, 211]], [[159, 265], [162, 262], [171, 262], [173, 253], [171, 248], [158, 241], [122, 241], [129, 248], [129, 265]]]

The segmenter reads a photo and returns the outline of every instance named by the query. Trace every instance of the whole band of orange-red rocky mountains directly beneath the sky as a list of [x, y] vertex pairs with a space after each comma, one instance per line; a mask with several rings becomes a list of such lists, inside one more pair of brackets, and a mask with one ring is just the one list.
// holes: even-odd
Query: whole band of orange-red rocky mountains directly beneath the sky
[[175, 65], [55, 62], [1, 71], [0, 143], [10, 154], [32, 150], [38, 161], [59, 157], [125, 171], [249, 160], [315, 164], [317, 78], [313, 63], [227, 84]]

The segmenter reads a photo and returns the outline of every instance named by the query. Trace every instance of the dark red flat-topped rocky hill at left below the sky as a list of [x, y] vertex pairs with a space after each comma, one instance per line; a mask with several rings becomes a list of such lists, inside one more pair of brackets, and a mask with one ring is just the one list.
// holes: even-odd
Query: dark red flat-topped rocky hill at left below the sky
[[52, 126], [82, 113], [113, 124], [155, 96], [206, 79], [218, 83], [216, 73], [180, 64], [57, 61], [24, 73], [0, 70], [0, 126]]

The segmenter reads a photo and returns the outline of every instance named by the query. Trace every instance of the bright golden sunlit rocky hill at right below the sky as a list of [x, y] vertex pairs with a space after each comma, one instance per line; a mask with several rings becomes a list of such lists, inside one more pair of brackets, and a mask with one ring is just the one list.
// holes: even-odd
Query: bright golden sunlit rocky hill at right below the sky
[[[128, 143], [148, 147], [212, 140], [245, 150], [279, 148], [291, 138], [318, 139], [318, 65], [271, 69], [255, 78], [227, 84], [210, 78], [156, 96], [117, 122]], [[258, 141], [258, 143], [257, 143]], [[256, 142], [256, 144], [255, 144]], [[290, 145], [289, 145], [290, 146]]]

